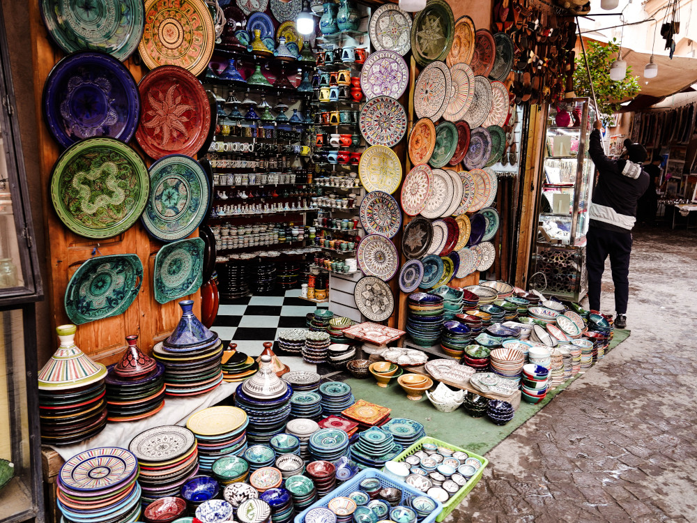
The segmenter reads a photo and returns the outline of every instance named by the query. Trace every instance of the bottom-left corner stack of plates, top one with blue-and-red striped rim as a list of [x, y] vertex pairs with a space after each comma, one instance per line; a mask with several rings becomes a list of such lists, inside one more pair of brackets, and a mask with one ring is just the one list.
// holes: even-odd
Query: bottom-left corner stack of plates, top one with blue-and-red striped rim
[[68, 460], [58, 473], [58, 508], [66, 522], [126, 523], [139, 518], [138, 461], [128, 450], [100, 447]]

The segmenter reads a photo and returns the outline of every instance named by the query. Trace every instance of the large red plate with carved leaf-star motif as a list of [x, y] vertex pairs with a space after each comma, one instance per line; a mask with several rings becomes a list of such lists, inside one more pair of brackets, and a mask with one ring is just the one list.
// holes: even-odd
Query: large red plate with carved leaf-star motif
[[141, 116], [135, 139], [157, 160], [168, 154], [197, 153], [210, 128], [210, 105], [201, 82], [175, 66], [151, 71], [138, 84]]

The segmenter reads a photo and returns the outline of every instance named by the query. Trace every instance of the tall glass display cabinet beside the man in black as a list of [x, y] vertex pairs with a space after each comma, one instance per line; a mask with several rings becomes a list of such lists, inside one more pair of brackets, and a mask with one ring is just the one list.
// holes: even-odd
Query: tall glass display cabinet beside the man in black
[[588, 137], [596, 115], [589, 98], [572, 98], [546, 107], [544, 116], [530, 285], [579, 301], [588, 291], [585, 235], [595, 171]]

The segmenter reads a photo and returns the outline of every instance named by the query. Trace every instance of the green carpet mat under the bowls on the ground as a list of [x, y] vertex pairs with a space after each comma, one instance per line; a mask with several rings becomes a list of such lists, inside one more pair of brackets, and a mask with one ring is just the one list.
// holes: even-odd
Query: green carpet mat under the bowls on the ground
[[[614, 338], [610, 344], [613, 349], [629, 337], [629, 330], [616, 330]], [[601, 360], [596, 365], [602, 365]], [[394, 381], [388, 388], [378, 387], [372, 377], [368, 379], [347, 378], [347, 384], [351, 385], [351, 390], [356, 399], [363, 399], [384, 407], [390, 407], [393, 418], [410, 418], [423, 423], [426, 434], [442, 441], [447, 441], [453, 445], [466, 448], [473, 453], [484, 455], [493, 447], [503, 441], [516, 428], [520, 427], [527, 420], [535, 416], [542, 407], [548, 404], [562, 390], [567, 388], [572, 381], [579, 379], [583, 374], [569, 379], [558, 386], [554, 391], [550, 391], [542, 402], [536, 405], [521, 401], [521, 406], [509, 423], [503, 426], [494, 425], [486, 416], [484, 418], [472, 418], [464, 409], [457, 409], [454, 412], [441, 412], [431, 405], [429, 399], [424, 395], [420, 401], [406, 399], [406, 394], [399, 384]]]

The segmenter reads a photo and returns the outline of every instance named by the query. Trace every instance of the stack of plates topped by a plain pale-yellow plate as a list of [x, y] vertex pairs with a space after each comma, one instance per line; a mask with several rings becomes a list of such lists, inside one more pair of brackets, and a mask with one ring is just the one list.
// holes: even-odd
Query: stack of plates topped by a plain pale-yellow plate
[[248, 423], [245, 411], [237, 407], [209, 407], [190, 416], [186, 427], [198, 441], [201, 472], [210, 472], [221, 457], [243, 455]]

